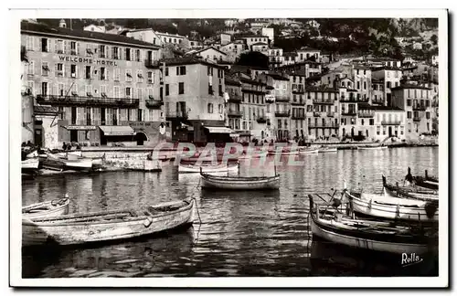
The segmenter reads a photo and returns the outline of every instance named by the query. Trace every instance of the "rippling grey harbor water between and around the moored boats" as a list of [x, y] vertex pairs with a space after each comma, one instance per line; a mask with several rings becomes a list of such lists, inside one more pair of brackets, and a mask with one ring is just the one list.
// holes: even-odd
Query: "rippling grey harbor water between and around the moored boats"
[[[104, 246], [24, 253], [24, 278], [157, 276], [430, 276], [432, 259], [403, 269], [396, 259], [313, 239], [307, 194], [362, 188], [379, 192], [382, 174], [402, 182], [438, 175], [438, 147], [344, 150], [300, 156], [303, 165], [240, 163], [240, 175], [281, 174], [274, 192], [218, 192], [199, 187], [198, 174], [111, 172], [37, 177], [22, 184], [23, 206], [69, 194], [70, 213], [140, 208], [197, 198], [201, 221], [174, 233]], [[40, 253], [41, 252], [41, 253]]]

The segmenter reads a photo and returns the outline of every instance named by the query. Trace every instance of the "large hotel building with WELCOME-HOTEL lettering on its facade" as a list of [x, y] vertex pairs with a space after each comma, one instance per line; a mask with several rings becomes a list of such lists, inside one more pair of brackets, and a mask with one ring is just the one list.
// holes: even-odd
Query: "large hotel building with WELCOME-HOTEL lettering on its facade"
[[37, 119], [38, 145], [142, 145], [165, 137], [158, 128], [165, 122], [160, 85], [150, 67], [158, 65], [160, 48], [120, 35], [27, 22], [21, 23], [21, 45], [34, 105], [58, 110], [51, 122]]

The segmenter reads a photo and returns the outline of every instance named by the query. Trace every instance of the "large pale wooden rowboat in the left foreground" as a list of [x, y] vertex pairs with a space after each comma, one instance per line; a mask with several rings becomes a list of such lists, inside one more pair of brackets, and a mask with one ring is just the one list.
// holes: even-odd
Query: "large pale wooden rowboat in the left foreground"
[[141, 211], [117, 210], [43, 219], [22, 219], [23, 247], [79, 245], [137, 238], [191, 224], [193, 198], [147, 206]]

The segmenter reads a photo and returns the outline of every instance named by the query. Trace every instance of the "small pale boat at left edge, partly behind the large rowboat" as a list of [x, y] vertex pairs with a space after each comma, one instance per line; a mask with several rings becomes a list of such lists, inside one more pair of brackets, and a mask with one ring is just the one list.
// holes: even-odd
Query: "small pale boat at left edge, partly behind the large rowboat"
[[69, 197], [22, 207], [23, 219], [58, 217], [69, 213]]

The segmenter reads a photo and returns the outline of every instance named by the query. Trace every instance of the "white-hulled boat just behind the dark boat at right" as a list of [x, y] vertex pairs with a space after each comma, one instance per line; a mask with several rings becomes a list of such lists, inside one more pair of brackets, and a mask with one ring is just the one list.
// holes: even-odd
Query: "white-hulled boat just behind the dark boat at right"
[[387, 219], [438, 221], [438, 204], [421, 200], [356, 193], [345, 190], [354, 212]]

